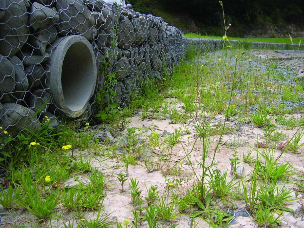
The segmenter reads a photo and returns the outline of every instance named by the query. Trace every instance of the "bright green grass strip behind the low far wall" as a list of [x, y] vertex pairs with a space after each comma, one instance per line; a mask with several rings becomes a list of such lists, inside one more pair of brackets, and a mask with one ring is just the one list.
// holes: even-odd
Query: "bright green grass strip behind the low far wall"
[[[196, 33], [185, 33], [185, 37], [187, 38], [207, 38], [207, 39], [222, 39], [221, 36], [203, 36], [201, 34]], [[290, 38], [236, 38], [229, 37], [230, 40], [242, 40], [242, 41], [251, 41], [251, 42], [266, 42], [266, 43], [291, 43]], [[292, 38], [292, 42], [294, 44], [299, 44], [304, 42], [304, 38]]]

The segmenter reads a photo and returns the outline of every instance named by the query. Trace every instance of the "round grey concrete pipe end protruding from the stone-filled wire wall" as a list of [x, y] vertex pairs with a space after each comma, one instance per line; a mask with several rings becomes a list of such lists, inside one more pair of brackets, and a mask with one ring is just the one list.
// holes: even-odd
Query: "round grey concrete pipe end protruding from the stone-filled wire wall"
[[62, 39], [50, 59], [50, 91], [65, 116], [79, 117], [92, 97], [97, 80], [92, 45], [83, 36]]

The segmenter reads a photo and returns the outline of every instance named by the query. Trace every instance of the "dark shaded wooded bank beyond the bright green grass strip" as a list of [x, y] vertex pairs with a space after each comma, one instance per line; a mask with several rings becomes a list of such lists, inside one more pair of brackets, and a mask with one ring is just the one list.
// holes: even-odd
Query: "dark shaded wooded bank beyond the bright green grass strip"
[[[184, 33], [221, 36], [218, 0], [129, 0], [136, 11], [161, 16]], [[304, 37], [304, 0], [223, 0], [230, 36]]]

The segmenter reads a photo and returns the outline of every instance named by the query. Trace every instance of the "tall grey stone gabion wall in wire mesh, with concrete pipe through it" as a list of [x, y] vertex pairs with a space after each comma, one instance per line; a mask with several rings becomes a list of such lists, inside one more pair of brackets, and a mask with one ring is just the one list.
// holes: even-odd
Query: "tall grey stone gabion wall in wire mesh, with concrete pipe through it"
[[163, 61], [178, 62], [184, 43], [161, 18], [102, 0], [0, 0], [2, 138], [47, 118], [90, 121], [109, 75], [123, 106], [142, 79], [161, 78]]

